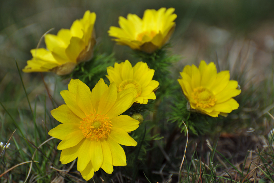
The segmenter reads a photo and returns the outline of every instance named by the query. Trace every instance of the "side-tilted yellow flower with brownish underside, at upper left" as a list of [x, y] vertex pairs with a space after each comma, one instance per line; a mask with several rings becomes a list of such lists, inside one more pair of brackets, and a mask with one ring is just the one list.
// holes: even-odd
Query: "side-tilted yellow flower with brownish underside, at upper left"
[[23, 72], [54, 72], [69, 74], [75, 66], [93, 56], [96, 14], [86, 11], [83, 19], [75, 20], [70, 29], [61, 29], [57, 35], [46, 34], [47, 49], [30, 50], [33, 58], [27, 61]]

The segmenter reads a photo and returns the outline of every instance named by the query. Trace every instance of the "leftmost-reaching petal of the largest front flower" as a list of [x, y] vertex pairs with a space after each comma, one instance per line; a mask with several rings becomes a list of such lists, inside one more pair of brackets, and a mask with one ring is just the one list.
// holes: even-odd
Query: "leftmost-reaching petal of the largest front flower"
[[57, 127], [51, 129], [48, 132], [48, 135], [58, 138], [60, 140], [65, 139], [65, 137], [74, 132], [79, 130], [80, 124], [77, 123], [64, 123], [64, 124], [59, 124]]

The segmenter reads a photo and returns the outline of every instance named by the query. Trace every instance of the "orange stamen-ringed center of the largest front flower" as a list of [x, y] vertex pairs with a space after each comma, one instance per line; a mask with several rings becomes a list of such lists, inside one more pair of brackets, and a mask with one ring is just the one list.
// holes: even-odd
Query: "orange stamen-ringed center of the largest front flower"
[[94, 113], [90, 112], [90, 114], [86, 114], [86, 117], [83, 118], [83, 121], [80, 121], [80, 129], [82, 129], [82, 133], [85, 138], [97, 139], [99, 138], [107, 138], [111, 129], [111, 121], [106, 115], [97, 114], [95, 109]]

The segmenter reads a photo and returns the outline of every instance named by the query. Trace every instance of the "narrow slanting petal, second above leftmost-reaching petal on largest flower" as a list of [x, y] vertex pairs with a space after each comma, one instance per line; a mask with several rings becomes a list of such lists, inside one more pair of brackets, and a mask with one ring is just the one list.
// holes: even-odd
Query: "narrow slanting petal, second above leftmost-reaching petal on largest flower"
[[68, 108], [72, 110], [74, 114], [79, 116], [80, 118], [85, 118], [85, 113], [80, 109], [80, 107], [76, 103], [76, 95], [68, 90], [63, 90], [60, 92], [61, 96], [65, 100]]

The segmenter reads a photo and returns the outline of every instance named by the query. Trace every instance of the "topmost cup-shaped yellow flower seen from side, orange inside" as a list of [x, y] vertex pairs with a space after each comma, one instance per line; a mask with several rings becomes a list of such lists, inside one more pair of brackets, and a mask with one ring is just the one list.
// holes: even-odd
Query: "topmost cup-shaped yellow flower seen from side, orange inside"
[[161, 48], [170, 38], [175, 28], [174, 8], [147, 9], [143, 19], [135, 14], [128, 14], [127, 19], [119, 17], [119, 27], [110, 27], [109, 35], [120, 45], [128, 45], [152, 53]]

